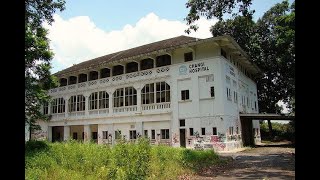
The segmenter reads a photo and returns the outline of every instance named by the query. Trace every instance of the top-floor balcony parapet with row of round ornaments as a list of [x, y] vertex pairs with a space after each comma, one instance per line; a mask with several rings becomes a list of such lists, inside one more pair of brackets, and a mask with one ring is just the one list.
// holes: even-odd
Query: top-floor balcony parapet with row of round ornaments
[[60, 93], [72, 93], [79, 90], [95, 89], [97, 87], [110, 87], [123, 83], [132, 83], [137, 80], [147, 80], [152, 78], [167, 77], [170, 75], [170, 66], [147, 69], [143, 71], [133, 72], [129, 74], [121, 74], [118, 76], [97, 79], [78, 84], [58, 87], [49, 90], [49, 95], [58, 95]]

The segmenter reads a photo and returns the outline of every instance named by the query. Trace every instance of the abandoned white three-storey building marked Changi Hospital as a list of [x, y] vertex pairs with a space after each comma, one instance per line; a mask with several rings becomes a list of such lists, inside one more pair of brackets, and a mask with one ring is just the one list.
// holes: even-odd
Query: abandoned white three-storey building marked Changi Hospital
[[[114, 144], [139, 136], [152, 144], [243, 146], [241, 113], [258, 113], [259, 68], [230, 36], [178, 36], [112, 53], [54, 75], [60, 86], [39, 124], [49, 141]], [[260, 142], [259, 121], [250, 133]]]

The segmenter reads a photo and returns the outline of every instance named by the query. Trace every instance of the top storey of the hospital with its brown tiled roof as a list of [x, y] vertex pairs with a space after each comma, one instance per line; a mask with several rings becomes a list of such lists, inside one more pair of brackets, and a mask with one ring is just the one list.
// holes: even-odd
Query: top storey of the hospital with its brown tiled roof
[[[57, 72], [55, 75], [59, 78], [59, 87], [50, 89], [49, 94], [168, 77], [173, 66], [221, 56], [248, 78], [252, 79], [259, 72], [229, 36], [208, 39], [179, 36], [95, 58]], [[190, 69], [197, 70], [201, 65], [191, 66], [195, 67]]]

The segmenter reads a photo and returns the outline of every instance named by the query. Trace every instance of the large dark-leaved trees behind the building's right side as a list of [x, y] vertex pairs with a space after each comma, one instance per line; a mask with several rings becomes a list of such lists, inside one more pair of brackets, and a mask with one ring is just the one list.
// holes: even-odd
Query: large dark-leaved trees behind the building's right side
[[[208, 6], [214, 2], [217, 5]], [[224, 0], [189, 1], [187, 7], [189, 5], [191, 9], [186, 18], [187, 24], [190, 25], [199, 19], [199, 15], [205, 15], [207, 18], [218, 17], [220, 21], [210, 29], [212, 35], [228, 34], [232, 36], [263, 71], [263, 76], [256, 79], [260, 112], [279, 113], [281, 107], [277, 103], [281, 100], [288, 103], [289, 107], [293, 107], [291, 113], [294, 114], [295, 3], [293, 2], [291, 7], [289, 7], [288, 1], [278, 3], [257, 22], [254, 22], [250, 13], [222, 20], [223, 13], [227, 12], [226, 10], [230, 7], [234, 7], [226, 6], [228, 2], [234, 3], [234, 1]], [[251, 3], [250, 1], [246, 2]], [[193, 27], [190, 26], [190, 28]], [[272, 136], [271, 122], [268, 121], [268, 124]]]

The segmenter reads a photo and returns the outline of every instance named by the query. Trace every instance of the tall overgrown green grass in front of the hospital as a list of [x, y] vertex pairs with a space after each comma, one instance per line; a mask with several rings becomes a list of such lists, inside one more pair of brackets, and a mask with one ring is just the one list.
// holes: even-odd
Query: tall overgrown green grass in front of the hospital
[[27, 142], [25, 179], [177, 179], [223, 163], [213, 150], [151, 146], [147, 139], [114, 147], [68, 141]]

